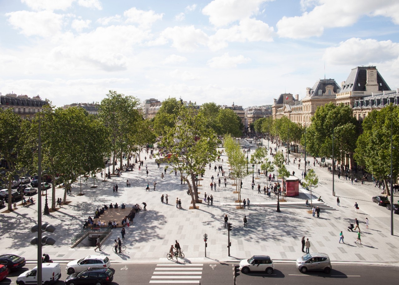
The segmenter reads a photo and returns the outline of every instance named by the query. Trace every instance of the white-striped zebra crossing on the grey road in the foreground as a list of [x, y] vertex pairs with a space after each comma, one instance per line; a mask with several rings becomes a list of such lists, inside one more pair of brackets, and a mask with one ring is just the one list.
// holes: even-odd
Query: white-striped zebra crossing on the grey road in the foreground
[[199, 284], [203, 263], [157, 264], [150, 283]]

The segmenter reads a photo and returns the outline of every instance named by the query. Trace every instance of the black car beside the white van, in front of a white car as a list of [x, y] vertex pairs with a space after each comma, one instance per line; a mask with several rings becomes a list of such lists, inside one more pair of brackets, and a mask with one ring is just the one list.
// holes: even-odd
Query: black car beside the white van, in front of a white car
[[109, 284], [114, 279], [114, 273], [109, 268], [89, 268], [80, 273], [73, 273], [65, 280], [66, 285], [77, 284]]

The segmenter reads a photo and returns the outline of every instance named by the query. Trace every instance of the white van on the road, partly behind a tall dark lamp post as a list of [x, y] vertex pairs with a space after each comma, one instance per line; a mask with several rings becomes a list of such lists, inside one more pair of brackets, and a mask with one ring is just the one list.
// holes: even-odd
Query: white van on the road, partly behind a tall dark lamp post
[[[59, 263], [43, 263], [41, 265], [41, 283], [42, 284], [53, 284], [61, 278], [61, 267]], [[38, 267], [36, 266], [32, 270], [25, 271], [18, 276], [16, 283], [18, 285], [25, 284], [37, 284], [36, 273]]]

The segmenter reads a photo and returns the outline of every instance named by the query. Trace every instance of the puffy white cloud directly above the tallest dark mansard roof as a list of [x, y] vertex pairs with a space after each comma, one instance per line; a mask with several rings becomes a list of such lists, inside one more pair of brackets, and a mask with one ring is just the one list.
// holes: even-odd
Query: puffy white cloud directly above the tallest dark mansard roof
[[327, 48], [324, 59], [334, 65], [367, 65], [397, 60], [399, 43], [351, 38], [336, 47]]

